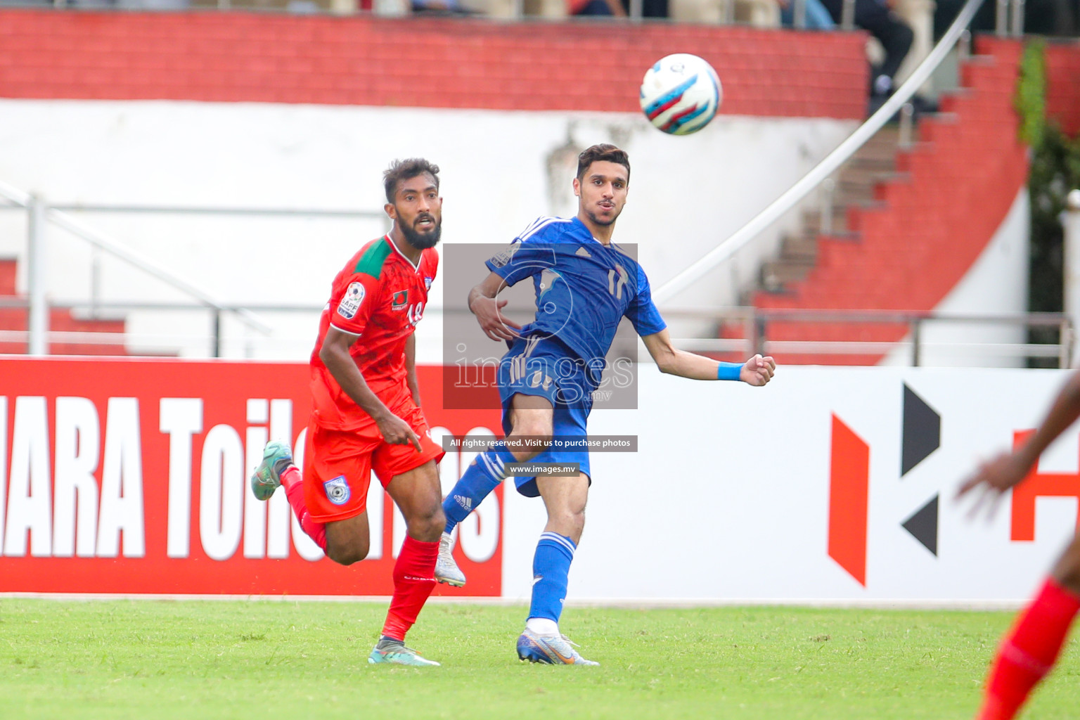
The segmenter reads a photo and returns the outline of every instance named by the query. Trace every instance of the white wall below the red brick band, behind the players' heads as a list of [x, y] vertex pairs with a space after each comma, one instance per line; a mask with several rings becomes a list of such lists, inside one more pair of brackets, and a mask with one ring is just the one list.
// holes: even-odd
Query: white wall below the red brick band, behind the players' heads
[[[443, 172], [444, 242], [509, 242], [540, 215], [575, 212], [573, 155], [613, 141], [633, 165], [619, 241], [639, 245], [659, 285], [728, 236], [836, 147], [848, 120], [720, 116], [671, 137], [638, 113], [524, 112], [190, 101], [0, 100], [0, 180], [56, 203], [362, 209], [382, 207], [380, 174], [426, 155]], [[130, 247], [233, 303], [321, 305], [329, 280], [381, 220], [80, 214]], [[733, 304], [775, 252], [793, 213], [680, 295]], [[90, 250], [50, 230], [49, 293], [90, 297]], [[26, 257], [25, 213], [0, 213], [0, 256]], [[26, 288], [25, 263], [19, 287]], [[433, 309], [442, 291], [436, 281]], [[183, 296], [112, 259], [103, 300]], [[310, 315], [266, 314], [269, 336], [226, 320], [227, 356], [303, 358]], [[204, 355], [205, 313], [129, 315], [131, 350]], [[421, 340], [434, 324], [421, 325]], [[687, 331], [683, 332], [684, 335]], [[437, 342], [422, 357], [440, 362]]]

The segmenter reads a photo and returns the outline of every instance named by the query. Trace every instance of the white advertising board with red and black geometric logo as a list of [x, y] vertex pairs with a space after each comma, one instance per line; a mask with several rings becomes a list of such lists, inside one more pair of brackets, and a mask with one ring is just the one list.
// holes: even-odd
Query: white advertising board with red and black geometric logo
[[[767, 388], [755, 389], [645, 366], [637, 410], [598, 411], [590, 420], [592, 434], [636, 434], [638, 452], [592, 458], [570, 599], [1024, 598], [1076, 529], [1077, 430], [1037, 468], [1071, 476], [1072, 497], [1017, 503], [1007, 494], [986, 521], [970, 520], [970, 504], [955, 494], [981, 459], [1038, 424], [1065, 377], [781, 367]], [[505, 503], [503, 596], [526, 598], [543, 511], [509, 488]], [[1032, 513], [1034, 539], [1013, 540], [1014, 526]]]

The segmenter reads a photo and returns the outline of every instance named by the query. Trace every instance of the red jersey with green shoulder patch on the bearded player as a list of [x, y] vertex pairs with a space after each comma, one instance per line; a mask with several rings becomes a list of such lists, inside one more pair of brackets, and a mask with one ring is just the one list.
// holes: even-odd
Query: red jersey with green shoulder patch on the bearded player
[[311, 353], [311, 392], [316, 422], [330, 430], [353, 430], [372, 418], [345, 394], [319, 351], [333, 325], [359, 336], [349, 349], [372, 391], [393, 407], [408, 394], [405, 341], [423, 316], [428, 290], [438, 269], [438, 253], [428, 248], [420, 263], [402, 255], [390, 235], [364, 245], [334, 279], [330, 299], [319, 321]]

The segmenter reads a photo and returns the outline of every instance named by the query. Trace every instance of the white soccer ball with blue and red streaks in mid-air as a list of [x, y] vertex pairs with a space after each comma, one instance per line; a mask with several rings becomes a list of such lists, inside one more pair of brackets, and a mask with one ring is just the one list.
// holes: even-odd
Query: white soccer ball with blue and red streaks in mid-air
[[662, 57], [642, 80], [642, 112], [670, 135], [689, 135], [707, 125], [721, 98], [716, 70], [697, 55]]

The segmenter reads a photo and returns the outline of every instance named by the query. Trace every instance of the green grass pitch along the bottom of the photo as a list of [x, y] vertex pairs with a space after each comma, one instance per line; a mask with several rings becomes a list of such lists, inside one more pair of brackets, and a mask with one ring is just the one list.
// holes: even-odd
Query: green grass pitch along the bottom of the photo
[[[518, 663], [516, 607], [432, 604], [369, 666], [384, 606], [0, 600], [0, 718], [971, 718], [1011, 613], [571, 609], [598, 668]], [[1067, 653], [1025, 717], [1072, 718]]]

